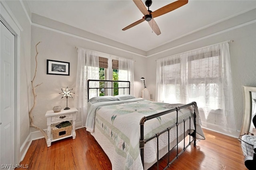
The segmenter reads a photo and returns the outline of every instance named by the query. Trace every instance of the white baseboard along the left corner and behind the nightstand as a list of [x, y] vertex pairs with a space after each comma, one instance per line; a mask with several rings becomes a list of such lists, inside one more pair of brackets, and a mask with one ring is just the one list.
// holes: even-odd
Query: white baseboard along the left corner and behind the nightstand
[[[83, 128], [82, 122], [76, 122], [76, 129]], [[47, 134], [47, 129], [44, 129]], [[28, 148], [30, 147], [32, 141], [42, 139], [44, 135], [40, 131], [30, 132], [22, 146], [20, 147], [20, 162], [24, 159], [26, 153], [28, 152]]]

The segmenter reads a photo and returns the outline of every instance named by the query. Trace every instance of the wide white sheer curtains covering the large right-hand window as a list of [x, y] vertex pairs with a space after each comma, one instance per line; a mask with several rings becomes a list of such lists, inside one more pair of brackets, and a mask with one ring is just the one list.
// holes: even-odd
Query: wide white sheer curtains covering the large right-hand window
[[156, 101], [195, 101], [204, 127], [236, 131], [228, 42], [159, 59], [156, 75]]

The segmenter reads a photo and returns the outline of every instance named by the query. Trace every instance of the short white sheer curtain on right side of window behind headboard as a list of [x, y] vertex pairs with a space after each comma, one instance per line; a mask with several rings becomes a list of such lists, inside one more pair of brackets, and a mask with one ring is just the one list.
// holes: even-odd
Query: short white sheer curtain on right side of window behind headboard
[[[118, 59], [118, 80], [130, 81], [130, 94], [134, 96], [134, 73], [133, 60], [119, 58]], [[118, 83], [118, 87], [128, 87], [128, 83]], [[118, 94], [129, 94], [128, 89], [119, 89]]]

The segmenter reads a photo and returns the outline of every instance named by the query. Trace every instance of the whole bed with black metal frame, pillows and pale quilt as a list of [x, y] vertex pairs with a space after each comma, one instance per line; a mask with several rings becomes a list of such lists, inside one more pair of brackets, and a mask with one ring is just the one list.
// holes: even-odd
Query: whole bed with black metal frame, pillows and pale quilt
[[[154, 163], [158, 164], [169, 150], [183, 145], [180, 152], [177, 149], [176, 157], [168, 160], [167, 168], [189, 145], [196, 145], [196, 139], [205, 139], [196, 102], [167, 104], [134, 98], [130, 94], [98, 96], [100, 88], [90, 87], [90, 82], [99, 81], [88, 80], [86, 130], [107, 154], [113, 170], [148, 169]], [[119, 88], [130, 91], [130, 82], [127, 84], [127, 87]], [[115, 88], [111, 85], [104, 87], [104, 91], [111, 90], [112, 94]], [[89, 97], [90, 89], [97, 91], [96, 97]], [[188, 135], [191, 137], [185, 144], [183, 139]], [[180, 141], [184, 142], [180, 144]]]

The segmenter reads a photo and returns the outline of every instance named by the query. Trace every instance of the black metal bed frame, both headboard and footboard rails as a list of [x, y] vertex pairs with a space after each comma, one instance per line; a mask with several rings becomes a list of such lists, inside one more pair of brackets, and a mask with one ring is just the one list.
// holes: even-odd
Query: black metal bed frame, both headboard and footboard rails
[[[116, 80], [88, 80], [88, 100], [89, 100], [89, 90], [90, 89], [97, 89], [97, 96], [98, 96], [98, 89], [102, 89], [100, 87], [93, 87], [93, 88], [90, 88], [90, 82], [111, 82], [111, 87], [104, 87], [104, 90], [106, 89], [111, 89], [111, 92], [113, 94], [113, 90], [114, 89], [129, 89], [129, 94], [130, 94], [130, 81], [116, 81]], [[129, 86], [128, 87], [113, 87], [113, 84], [114, 82], [127, 82], [129, 83]], [[194, 114], [189, 116], [189, 117], [186, 117], [185, 119], [182, 119], [182, 120], [178, 120], [178, 112], [180, 109], [183, 109], [183, 108], [186, 108], [186, 107], [189, 107], [189, 106], [196, 106], [196, 102], [192, 102], [190, 104], [186, 104], [186, 105], [182, 105], [182, 106], [179, 106], [179, 107], [175, 107], [175, 108], [172, 108], [172, 109], [169, 109], [169, 110], [166, 110], [166, 111], [162, 111], [160, 113], [156, 113], [156, 114], [153, 114], [153, 115], [149, 115], [149, 116], [146, 116], [146, 117], [142, 117], [142, 119], [140, 120], [140, 156], [141, 156], [141, 160], [142, 160], [142, 165], [144, 167], [144, 145], [148, 142], [148, 141], [151, 141], [152, 139], [156, 138], [157, 140], [157, 169], [159, 169], [159, 142], [158, 142], [158, 139], [159, 139], [159, 136], [162, 135], [163, 133], [167, 132], [168, 131], [168, 163], [166, 165], [166, 167], [164, 168], [164, 170], [166, 170], [187, 148], [188, 146], [191, 145], [192, 142], [194, 142], [194, 146], [196, 146], [196, 112], [195, 112], [195, 109], [194, 109]], [[149, 137], [148, 139], [144, 139], [144, 123], [150, 119], [153, 119], [153, 118], [156, 118], [156, 117], [159, 117], [159, 116], [162, 116], [162, 115], [166, 115], [168, 113], [171, 113], [171, 112], [174, 112], [176, 111], [176, 123], [170, 125], [169, 127], [167, 127], [166, 129], [162, 130], [161, 132], [158, 132], [156, 133], [155, 135], [153, 135], [152, 137]], [[195, 130], [193, 131], [193, 133], [190, 133], [191, 131], [191, 119], [193, 118], [193, 122], [194, 122], [194, 128]], [[189, 120], [189, 132], [188, 132], [188, 135], [190, 135], [191, 137], [193, 137], [193, 139], [191, 140], [191, 138], [189, 137], [189, 142], [188, 144], [186, 145], [185, 143], [185, 138], [186, 138], [186, 131], [185, 131], [185, 122]], [[178, 126], [180, 124], [184, 125], [184, 131], [183, 131], [183, 149], [179, 152], [178, 151], [178, 144], [179, 144], [179, 141], [178, 141], [178, 137], [179, 137], [179, 134], [178, 134]], [[172, 128], [175, 128], [176, 127], [176, 132], [177, 132], [177, 136], [176, 136], [176, 156], [170, 160], [170, 130]], [[172, 149], [171, 149], [172, 150]], [[167, 154], [167, 153], [166, 153]]]

